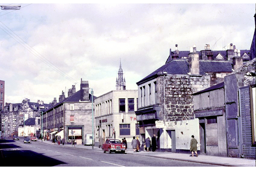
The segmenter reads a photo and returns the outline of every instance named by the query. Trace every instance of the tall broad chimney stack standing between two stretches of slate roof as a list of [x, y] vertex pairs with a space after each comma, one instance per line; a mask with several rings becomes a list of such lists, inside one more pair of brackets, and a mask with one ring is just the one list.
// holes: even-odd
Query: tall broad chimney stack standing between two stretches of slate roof
[[189, 73], [190, 74], [199, 74], [199, 54], [196, 52], [196, 47], [193, 45], [193, 48], [190, 48], [189, 53]]

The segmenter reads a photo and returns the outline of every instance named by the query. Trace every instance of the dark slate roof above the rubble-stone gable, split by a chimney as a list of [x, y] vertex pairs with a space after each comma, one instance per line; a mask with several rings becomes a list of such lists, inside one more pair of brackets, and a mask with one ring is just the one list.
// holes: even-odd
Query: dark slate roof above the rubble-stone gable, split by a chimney
[[[220, 61], [220, 60], [199, 60], [199, 70], [201, 75], [207, 73], [231, 73], [232, 72], [232, 61]], [[151, 78], [158, 77], [157, 74], [160, 72], [167, 72], [167, 74], [188, 74], [189, 73], [189, 62], [187, 59], [175, 59], [167, 62], [156, 71], [143, 78], [137, 85], [145, 82]]]

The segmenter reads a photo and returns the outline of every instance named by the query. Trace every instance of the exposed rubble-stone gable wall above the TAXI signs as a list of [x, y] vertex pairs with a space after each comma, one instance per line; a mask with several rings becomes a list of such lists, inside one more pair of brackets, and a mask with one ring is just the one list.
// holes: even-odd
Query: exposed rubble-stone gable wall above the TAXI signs
[[209, 88], [209, 76], [167, 75], [165, 79], [166, 121], [194, 119], [192, 94]]

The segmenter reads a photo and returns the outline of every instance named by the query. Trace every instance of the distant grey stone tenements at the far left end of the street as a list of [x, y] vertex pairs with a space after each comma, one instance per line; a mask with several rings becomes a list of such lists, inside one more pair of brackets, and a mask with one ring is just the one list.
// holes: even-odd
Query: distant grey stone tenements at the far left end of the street
[[[24, 99], [21, 103], [6, 103], [1, 116], [1, 138], [30, 136], [31, 133], [33, 133], [33, 136], [39, 137], [41, 130], [41, 126], [38, 124], [38, 122], [40, 123], [40, 114], [49, 107], [50, 105], [44, 104], [43, 101], [30, 102], [30, 99]], [[30, 118], [33, 118], [35, 122], [33, 130], [29, 130], [29, 133], [27, 133], [28, 130], [24, 132], [24, 121], [26, 122]]]

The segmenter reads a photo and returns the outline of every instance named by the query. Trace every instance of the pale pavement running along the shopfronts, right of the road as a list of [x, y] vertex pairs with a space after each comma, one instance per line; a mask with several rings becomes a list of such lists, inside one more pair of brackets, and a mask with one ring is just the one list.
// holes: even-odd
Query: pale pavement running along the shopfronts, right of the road
[[[42, 141], [37, 141], [42, 142]], [[95, 150], [99, 152], [103, 152], [101, 148], [96, 146], [85, 146], [83, 144], [52, 144], [52, 142], [49, 141], [43, 141], [45, 144], [51, 144], [56, 147], [73, 147], [74, 149], [85, 149], [85, 150]], [[202, 163], [202, 164], [212, 164], [212, 165], [219, 165], [219, 166], [225, 166], [225, 167], [255, 167], [256, 166], [256, 159], [245, 159], [245, 158], [232, 158], [232, 157], [222, 157], [222, 156], [209, 156], [205, 154], [198, 155], [198, 157], [195, 156], [192, 157], [192, 154], [187, 153], [172, 153], [172, 152], [134, 152], [133, 149], [127, 149], [127, 154], [134, 154], [134, 155], [140, 155], [140, 156], [150, 156], [155, 158], [163, 158], [163, 159], [171, 159], [171, 160], [178, 160], [178, 161], [189, 161], [189, 162], [196, 162], [196, 163]]]

